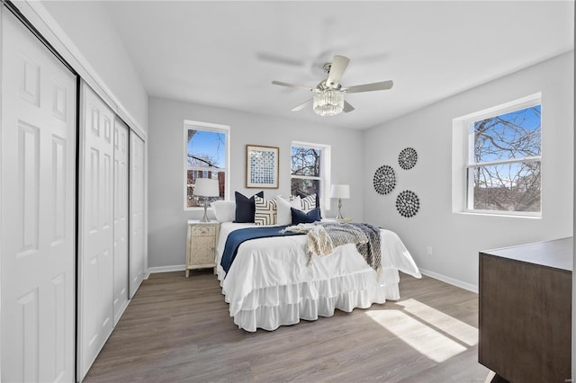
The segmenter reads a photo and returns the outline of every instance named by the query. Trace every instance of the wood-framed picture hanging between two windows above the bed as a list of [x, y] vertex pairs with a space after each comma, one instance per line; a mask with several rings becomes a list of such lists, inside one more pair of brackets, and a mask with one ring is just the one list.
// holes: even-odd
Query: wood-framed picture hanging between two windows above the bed
[[278, 189], [279, 147], [246, 146], [246, 187]]

